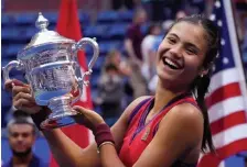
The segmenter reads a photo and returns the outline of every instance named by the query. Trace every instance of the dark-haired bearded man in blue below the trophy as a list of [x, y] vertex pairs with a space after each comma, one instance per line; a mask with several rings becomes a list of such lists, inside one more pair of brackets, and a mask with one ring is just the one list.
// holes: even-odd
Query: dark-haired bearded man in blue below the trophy
[[23, 113], [25, 112], [17, 110], [13, 119], [7, 125], [9, 144], [13, 155], [9, 162], [3, 162], [2, 167], [47, 167], [32, 152], [36, 137], [35, 126], [32, 119]]

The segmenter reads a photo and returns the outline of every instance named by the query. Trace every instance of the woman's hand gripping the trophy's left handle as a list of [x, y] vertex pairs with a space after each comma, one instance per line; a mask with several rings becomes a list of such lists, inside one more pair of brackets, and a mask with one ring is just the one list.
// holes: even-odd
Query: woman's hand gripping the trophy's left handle
[[31, 94], [31, 88], [29, 85], [13, 79], [7, 80], [4, 84], [4, 88], [12, 91], [14, 108], [22, 110], [29, 114], [34, 114], [42, 109], [35, 103], [35, 100]]

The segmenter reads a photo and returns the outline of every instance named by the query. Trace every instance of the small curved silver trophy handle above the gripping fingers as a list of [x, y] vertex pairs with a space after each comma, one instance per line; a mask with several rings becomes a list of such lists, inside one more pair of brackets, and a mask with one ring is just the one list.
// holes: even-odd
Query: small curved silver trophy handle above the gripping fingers
[[10, 79], [10, 70], [12, 68], [17, 68], [18, 70], [22, 70], [23, 69], [23, 65], [19, 60], [11, 60], [8, 65], [2, 67], [4, 81]]

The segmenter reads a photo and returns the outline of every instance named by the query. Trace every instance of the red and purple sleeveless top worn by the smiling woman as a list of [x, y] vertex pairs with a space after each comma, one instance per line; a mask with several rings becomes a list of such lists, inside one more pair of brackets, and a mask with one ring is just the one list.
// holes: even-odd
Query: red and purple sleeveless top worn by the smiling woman
[[[153, 102], [154, 98], [143, 100], [130, 114], [129, 127], [119, 152], [119, 157], [127, 167], [133, 166], [138, 160], [141, 153], [154, 137], [160, 121], [173, 107], [185, 102], [197, 107], [197, 103], [192, 98], [191, 93], [184, 93], [172, 99], [150, 122], [146, 123], [146, 119], [149, 111], [152, 109]], [[176, 160], [172, 167], [196, 167], [196, 164], [186, 164]]]

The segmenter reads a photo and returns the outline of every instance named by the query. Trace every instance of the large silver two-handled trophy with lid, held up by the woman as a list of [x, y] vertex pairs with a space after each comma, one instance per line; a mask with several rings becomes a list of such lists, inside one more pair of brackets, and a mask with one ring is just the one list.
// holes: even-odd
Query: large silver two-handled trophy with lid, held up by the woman
[[[83, 37], [76, 43], [49, 31], [49, 21], [42, 13], [39, 13], [35, 25], [40, 31], [18, 53], [18, 60], [12, 60], [3, 67], [3, 78], [10, 79], [9, 73], [12, 68], [25, 73], [35, 102], [52, 110], [49, 118], [41, 123], [42, 129], [73, 124], [75, 121], [72, 116], [76, 113], [72, 104], [80, 98], [84, 85], [89, 82], [85, 77], [92, 74], [98, 58], [98, 44], [95, 38], [89, 37]], [[88, 70], [82, 74], [77, 52], [87, 44], [93, 47], [94, 54]]]

